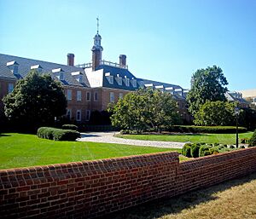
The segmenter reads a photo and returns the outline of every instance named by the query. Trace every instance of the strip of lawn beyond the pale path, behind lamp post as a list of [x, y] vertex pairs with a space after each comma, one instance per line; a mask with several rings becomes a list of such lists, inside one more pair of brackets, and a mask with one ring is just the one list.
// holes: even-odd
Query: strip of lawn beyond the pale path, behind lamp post
[[[239, 134], [239, 138], [250, 138], [253, 132]], [[193, 143], [222, 143], [227, 145], [236, 144], [236, 134], [172, 134], [172, 135], [116, 135], [126, 139], [136, 139], [145, 141], [177, 141]]]

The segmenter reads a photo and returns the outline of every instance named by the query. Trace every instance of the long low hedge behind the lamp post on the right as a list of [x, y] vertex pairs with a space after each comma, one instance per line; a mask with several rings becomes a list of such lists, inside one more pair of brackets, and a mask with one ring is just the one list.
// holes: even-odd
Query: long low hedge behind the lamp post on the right
[[[236, 126], [195, 126], [195, 125], [173, 125], [170, 131], [184, 133], [236, 133]], [[246, 132], [244, 127], [238, 127], [238, 132]]]

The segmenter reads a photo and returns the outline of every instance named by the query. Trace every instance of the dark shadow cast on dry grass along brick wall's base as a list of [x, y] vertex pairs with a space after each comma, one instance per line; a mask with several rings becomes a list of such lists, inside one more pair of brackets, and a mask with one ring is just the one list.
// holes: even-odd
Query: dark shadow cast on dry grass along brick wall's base
[[108, 216], [99, 217], [98, 219], [154, 219], [168, 214], [177, 214], [184, 209], [218, 199], [213, 196], [214, 193], [223, 192], [230, 187], [236, 187], [255, 179], [256, 173], [253, 173], [228, 182], [222, 182], [212, 187], [178, 195], [170, 199], [150, 201], [146, 204], [131, 207], [127, 210], [121, 210]]

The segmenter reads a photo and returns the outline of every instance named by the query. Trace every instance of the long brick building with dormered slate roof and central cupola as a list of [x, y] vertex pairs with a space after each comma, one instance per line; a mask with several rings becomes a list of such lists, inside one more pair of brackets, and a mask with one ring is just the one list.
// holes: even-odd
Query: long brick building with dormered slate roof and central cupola
[[3, 96], [12, 92], [17, 80], [25, 78], [31, 70], [37, 70], [49, 73], [61, 82], [67, 97], [67, 118], [79, 123], [88, 122], [91, 112], [104, 111], [109, 102], [116, 102], [139, 88], [169, 92], [177, 100], [183, 118], [189, 120], [182, 87], [137, 78], [128, 70], [126, 55], [119, 55], [119, 63], [103, 61], [101, 41], [97, 31], [91, 63], [79, 66], [74, 66], [73, 54], [67, 54], [67, 65], [0, 54], [0, 116], [3, 116]]

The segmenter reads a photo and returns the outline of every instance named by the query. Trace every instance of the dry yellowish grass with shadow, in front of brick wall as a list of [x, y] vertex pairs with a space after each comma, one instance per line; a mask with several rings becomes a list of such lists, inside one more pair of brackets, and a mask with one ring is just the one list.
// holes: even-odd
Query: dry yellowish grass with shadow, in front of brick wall
[[253, 219], [256, 218], [256, 173], [104, 216], [110, 218]]

